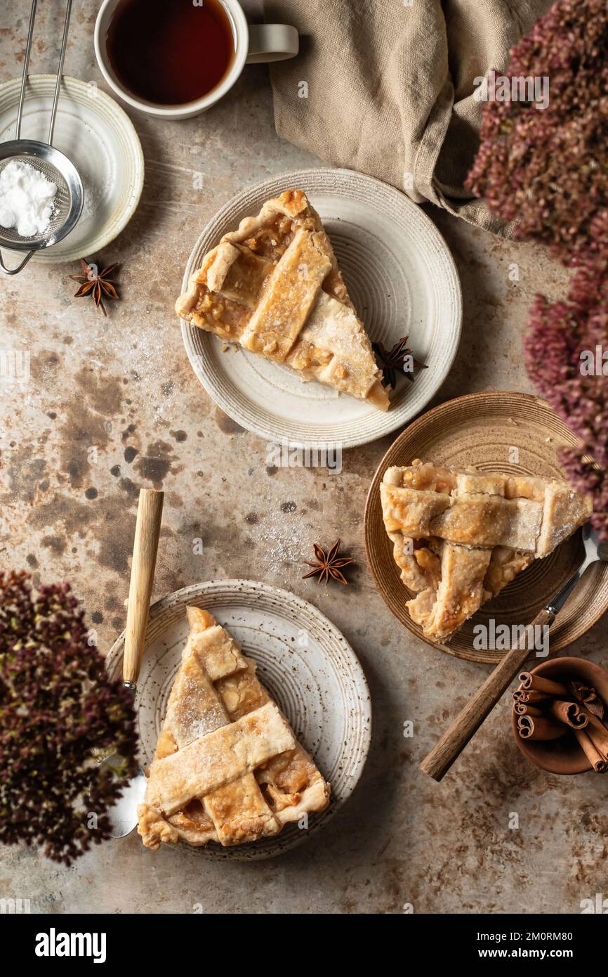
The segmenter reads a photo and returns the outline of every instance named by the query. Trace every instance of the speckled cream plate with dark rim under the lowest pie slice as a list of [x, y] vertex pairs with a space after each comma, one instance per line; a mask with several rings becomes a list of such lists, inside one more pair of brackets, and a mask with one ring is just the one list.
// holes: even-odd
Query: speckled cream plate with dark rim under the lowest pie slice
[[[287, 825], [275, 837], [235, 848], [214, 842], [200, 848], [185, 846], [208, 859], [272, 858], [326, 824], [354, 790], [371, 738], [365, 675], [332, 622], [286, 590], [254, 580], [212, 580], [183, 587], [150, 609], [137, 694], [144, 767], [151, 762], [180, 667], [188, 604], [210, 611], [241, 643], [245, 655], [256, 660], [263, 685], [332, 786], [329, 807], [310, 817], [307, 830]], [[122, 674], [123, 654], [124, 632], [107, 657], [113, 678]]]

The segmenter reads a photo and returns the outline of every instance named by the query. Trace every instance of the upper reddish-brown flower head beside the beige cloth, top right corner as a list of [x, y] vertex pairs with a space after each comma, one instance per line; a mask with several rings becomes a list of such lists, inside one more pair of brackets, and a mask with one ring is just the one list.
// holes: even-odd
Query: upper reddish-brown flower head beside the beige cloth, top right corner
[[548, 78], [547, 108], [487, 102], [467, 186], [516, 221], [519, 239], [551, 246], [566, 264], [599, 250], [608, 214], [606, 0], [559, 0], [512, 49], [507, 77]]

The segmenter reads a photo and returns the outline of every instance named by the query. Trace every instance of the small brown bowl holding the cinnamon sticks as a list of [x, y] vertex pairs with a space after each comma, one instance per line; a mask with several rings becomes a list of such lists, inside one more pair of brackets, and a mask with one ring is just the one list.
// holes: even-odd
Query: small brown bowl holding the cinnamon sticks
[[[530, 670], [533, 674], [543, 675], [554, 682], [579, 679], [585, 685], [592, 686], [608, 706], [608, 671], [586, 658], [550, 658]], [[517, 733], [517, 717], [512, 710], [511, 730], [523, 755], [549, 774], [584, 774], [591, 769], [591, 764], [574, 735], [566, 734], [559, 740], [546, 742], [522, 740]]]

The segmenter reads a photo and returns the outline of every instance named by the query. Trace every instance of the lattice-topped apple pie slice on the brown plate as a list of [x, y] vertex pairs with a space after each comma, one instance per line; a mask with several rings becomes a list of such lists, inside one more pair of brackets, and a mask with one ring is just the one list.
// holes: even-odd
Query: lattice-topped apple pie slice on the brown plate
[[418, 459], [387, 469], [380, 490], [393, 558], [417, 594], [406, 606], [438, 641], [591, 515], [588, 496], [566, 482], [454, 472]]

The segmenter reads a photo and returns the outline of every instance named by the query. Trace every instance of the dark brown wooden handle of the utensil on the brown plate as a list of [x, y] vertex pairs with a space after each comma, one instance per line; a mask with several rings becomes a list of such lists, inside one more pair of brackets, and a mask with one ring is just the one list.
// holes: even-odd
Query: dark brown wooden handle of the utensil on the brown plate
[[440, 781], [448, 772], [454, 761], [461, 755], [466, 743], [477, 732], [528, 658], [531, 651], [528, 645], [530, 628], [538, 625], [550, 626], [554, 618], [553, 612], [547, 608], [534, 618], [532, 624], [526, 628], [523, 640], [517, 642], [507, 652], [505, 658], [488, 675], [481, 688], [466, 703], [465, 708], [456, 717], [450, 728], [445, 731], [439, 742], [426, 754], [420, 765], [423, 773], [428, 774], [435, 781]]

